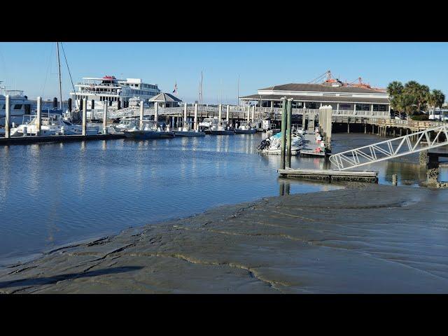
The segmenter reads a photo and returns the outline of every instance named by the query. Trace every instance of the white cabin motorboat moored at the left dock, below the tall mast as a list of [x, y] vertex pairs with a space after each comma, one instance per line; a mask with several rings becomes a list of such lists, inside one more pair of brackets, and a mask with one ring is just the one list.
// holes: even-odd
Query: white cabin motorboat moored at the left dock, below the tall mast
[[[37, 135], [37, 117], [33, 116], [28, 123], [22, 123], [18, 127], [11, 128], [11, 137], [23, 137], [25, 135]], [[97, 135], [99, 127], [87, 125], [86, 135]], [[80, 125], [73, 125], [61, 116], [41, 117], [40, 135], [81, 135], [83, 128]]]

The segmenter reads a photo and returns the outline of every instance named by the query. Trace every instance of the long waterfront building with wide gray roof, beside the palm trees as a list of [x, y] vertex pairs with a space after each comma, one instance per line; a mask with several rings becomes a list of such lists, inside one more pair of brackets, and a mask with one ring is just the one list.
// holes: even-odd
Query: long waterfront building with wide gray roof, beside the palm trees
[[340, 82], [274, 85], [258, 90], [258, 94], [239, 99], [244, 105], [280, 108], [281, 97], [293, 98], [293, 109], [318, 109], [323, 105], [331, 105], [333, 111], [377, 112], [372, 115], [391, 112], [389, 94], [385, 90], [344, 85]]

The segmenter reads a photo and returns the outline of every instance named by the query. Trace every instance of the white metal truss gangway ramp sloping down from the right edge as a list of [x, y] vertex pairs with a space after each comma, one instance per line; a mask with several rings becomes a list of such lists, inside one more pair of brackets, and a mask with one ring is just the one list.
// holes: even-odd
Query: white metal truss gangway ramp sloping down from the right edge
[[[433, 132], [436, 134], [435, 138], [430, 140], [430, 134]], [[437, 142], [440, 134], [444, 134], [445, 139], [442, 142]], [[339, 170], [347, 170], [447, 145], [448, 126], [443, 125], [333, 154], [330, 156], [330, 162]]]

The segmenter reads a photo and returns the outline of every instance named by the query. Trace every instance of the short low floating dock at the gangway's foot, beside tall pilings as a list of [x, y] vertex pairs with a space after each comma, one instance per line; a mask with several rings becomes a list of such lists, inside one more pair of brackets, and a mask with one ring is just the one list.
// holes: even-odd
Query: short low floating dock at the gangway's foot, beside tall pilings
[[359, 181], [378, 183], [378, 172], [339, 171], [332, 169], [278, 169], [283, 177], [325, 181]]

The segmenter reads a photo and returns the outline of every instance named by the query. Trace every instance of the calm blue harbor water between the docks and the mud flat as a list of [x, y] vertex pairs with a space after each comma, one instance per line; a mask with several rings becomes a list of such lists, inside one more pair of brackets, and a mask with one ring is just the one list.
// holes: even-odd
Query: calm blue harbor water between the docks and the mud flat
[[[0, 148], [0, 265], [71, 241], [279, 195], [279, 156], [256, 152], [264, 134], [146, 141], [109, 140]], [[334, 151], [379, 138], [334, 134]], [[381, 138], [384, 139], [384, 138]], [[293, 158], [292, 167], [323, 168]], [[380, 183], [416, 185], [419, 165], [381, 162]], [[446, 179], [447, 174], [442, 174]], [[338, 188], [288, 181], [290, 193]]]

